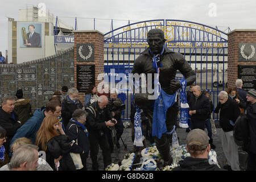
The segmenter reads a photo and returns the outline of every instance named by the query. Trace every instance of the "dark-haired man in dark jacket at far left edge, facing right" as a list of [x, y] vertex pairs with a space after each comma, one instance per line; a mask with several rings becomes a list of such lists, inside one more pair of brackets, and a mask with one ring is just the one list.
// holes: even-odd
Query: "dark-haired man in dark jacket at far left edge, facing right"
[[6, 130], [6, 142], [4, 143], [7, 154], [10, 152], [10, 142], [20, 127], [18, 114], [14, 111], [15, 97], [6, 96], [1, 100], [0, 126]]

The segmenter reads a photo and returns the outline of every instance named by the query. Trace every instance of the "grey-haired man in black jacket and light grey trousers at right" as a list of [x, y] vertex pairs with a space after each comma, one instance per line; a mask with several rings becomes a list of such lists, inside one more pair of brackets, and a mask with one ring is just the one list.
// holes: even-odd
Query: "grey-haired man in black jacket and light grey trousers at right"
[[238, 146], [233, 137], [233, 126], [238, 116], [240, 109], [236, 102], [228, 97], [228, 93], [221, 91], [218, 94], [218, 105], [214, 113], [220, 110], [220, 126], [221, 130], [221, 144], [224, 155], [228, 161], [228, 165], [224, 166], [225, 169], [240, 171], [240, 163], [238, 158]]

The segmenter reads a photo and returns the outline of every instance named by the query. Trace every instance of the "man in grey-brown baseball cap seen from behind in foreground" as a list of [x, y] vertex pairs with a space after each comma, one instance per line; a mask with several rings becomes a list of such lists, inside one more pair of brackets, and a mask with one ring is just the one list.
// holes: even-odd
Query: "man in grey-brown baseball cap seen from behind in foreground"
[[208, 155], [210, 152], [209, 137], [201, 129], [189, 131], [186, 138], [186, 148], [191, 157], [179, 162], [180, 166], [172, 171], [225, 171], [216, 164], [209, 164]]

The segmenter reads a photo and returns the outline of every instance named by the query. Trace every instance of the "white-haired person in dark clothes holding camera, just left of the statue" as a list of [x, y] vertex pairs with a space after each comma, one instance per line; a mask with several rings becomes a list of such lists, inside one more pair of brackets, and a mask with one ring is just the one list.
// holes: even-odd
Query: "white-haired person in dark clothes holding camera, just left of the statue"
[[[109, 127], [108, 130], [108, 140], [109, 140], [109, 147], [110, 147], [110, 152], [113, 152], [114, 149], [114, 144], [116, 144], [117, 148], [120, 148], [120, 144], [119, 144], [119, 139], [121, 138], [121, 135], [123, 134], [123, 122], [121, 119], [121, 114], [122, 111], [125, 109], [125, 105], [123, 104], [122, 100], [120, 98], [117, 97], [118, 95], [118, 90], [117, 89], [113, 89], [110, 92], [110, 96], [109, 96], [109, 110], [111, 111], [112, 116], [115, 118], [115, 120], [117, 120], [117, 124], [115, 125], [114, 128]], [[116, 133], [116, 137], [117, 140], [114, 142], [112, 140], [113, 136], [111, 135], [112, 133], [112, 129], [115, 129]], [[114, 144], [113, 144], [114, 143]]]

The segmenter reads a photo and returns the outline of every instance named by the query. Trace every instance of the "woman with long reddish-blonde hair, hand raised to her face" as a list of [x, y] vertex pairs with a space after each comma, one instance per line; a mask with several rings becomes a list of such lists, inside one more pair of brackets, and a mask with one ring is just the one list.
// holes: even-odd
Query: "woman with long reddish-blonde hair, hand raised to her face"
[[56, 171], [76, 169], [69, 153], [73, 144], [69, 142], [58, 117], [51, 114], [44, 118], [36, 134], [36, 145], [46, 152], [47, 163]]

